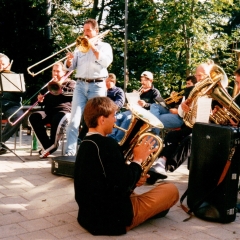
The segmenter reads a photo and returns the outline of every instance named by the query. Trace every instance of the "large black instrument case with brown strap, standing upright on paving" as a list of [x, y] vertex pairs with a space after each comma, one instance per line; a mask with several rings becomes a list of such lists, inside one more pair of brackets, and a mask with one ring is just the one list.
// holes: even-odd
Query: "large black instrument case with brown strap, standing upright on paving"
[[[236, 218], [239, 179], [239, 128], [195, 123], [184, 211], [204, 220], [229, 223]], [[182, 203], [187, 197], [188, 208]]]

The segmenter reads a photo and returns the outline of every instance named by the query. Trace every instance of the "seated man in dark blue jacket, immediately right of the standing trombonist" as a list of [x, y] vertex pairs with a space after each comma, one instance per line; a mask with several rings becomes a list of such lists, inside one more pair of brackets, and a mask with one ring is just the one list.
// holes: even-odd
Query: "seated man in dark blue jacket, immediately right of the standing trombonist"
[[107, 87], [107, 97], [114, 101], [120, 110], [125, 103], [124, 91], [120, 87], [116, 87], [116, 75], [114, 73], [109, 73], [106, 79]]

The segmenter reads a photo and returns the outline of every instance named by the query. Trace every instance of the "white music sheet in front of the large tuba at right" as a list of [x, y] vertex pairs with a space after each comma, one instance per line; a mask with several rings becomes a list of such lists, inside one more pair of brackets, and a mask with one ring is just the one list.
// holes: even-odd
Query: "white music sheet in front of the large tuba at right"
[[212, 105], [212, 98], [208, 98], [208, 97], [198, 98], [196, 122], [209, 123], [211, 105]]

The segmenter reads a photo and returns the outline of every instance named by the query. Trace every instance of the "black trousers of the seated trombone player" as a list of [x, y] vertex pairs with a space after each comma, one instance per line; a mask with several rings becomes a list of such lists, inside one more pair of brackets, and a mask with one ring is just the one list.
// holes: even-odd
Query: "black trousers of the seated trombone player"
[[[46, 116], [44, 118], [41, 112], [35, 112], [30, 115], [29, 122], [36, 134], [37, 139], [45, 150], [56, 144], [57, 129], [60, 121], [65, 117], [65, 115], [66, 114], [63, 112], [58, 112], [52, 116]], [[49, 123], [51, 124], [50, 136], [48, 136], [45, 127], [46, 124]]]

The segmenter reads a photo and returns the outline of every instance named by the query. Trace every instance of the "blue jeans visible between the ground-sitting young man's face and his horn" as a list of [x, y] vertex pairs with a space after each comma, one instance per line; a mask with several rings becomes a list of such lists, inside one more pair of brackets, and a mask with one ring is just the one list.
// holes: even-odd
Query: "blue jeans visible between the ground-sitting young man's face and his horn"
[[[116, 123], [115, 124], [117, 126], [127, 130], [130, 125], [131, 119], [132, 119], [131, 111], [118, 113], [116, 115]], [[124, 134], [125, 134], [125, 132], [123, 132], [122, 130], [113, 128], [112, 133], [109, 134], [108, 137], [111, 137], [111, 138], [115, 139], [117, 142], [120, 142], [122, 140], [122, 138], [124, 137]]]

